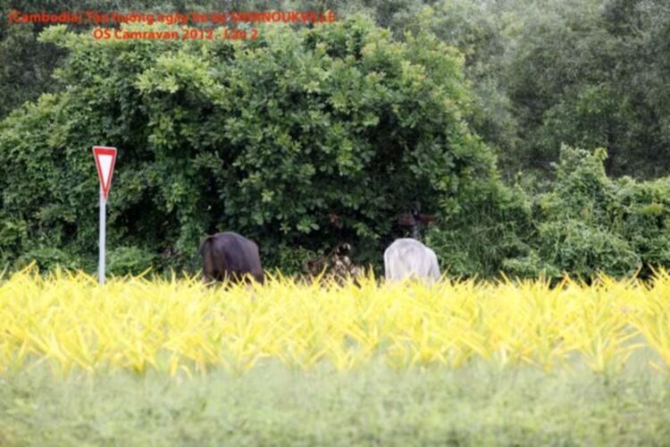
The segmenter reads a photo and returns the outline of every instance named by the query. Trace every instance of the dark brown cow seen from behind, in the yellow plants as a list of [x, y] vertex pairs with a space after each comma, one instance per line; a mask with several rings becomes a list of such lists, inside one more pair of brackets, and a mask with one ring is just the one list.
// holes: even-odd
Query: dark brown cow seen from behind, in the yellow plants
[[261, 257], [253, 240], [236, 232], [219, 232], [207, 236], [200, 244], [203, 254], [205, 281], [241, 280], [250, 274], [258, 283], [264, 283]]

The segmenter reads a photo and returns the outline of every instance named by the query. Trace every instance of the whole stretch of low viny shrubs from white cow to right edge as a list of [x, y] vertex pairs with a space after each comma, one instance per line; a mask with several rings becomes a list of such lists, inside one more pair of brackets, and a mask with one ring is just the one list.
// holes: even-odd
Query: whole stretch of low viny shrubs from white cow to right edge
[[537, 192], [491, 185], [446, 214], [428, 239], [452, 274], [649, 276], [670, 264], [670, 179], [610, 179], [604, 149], [564, 147]]

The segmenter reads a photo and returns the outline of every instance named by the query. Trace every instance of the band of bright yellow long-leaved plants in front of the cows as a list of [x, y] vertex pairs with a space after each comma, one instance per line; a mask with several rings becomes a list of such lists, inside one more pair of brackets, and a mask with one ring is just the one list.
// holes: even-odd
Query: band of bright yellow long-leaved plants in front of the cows
[[55, 374], [149, 368], [175, 375], [213, 367], [243, 373], [266, 359], [337, 370], [383, 358], [390, 367], [464, 366], [544, 370], [623, 367], [648, 350], [670, 367], [670, 274], [650, 283], [599, 278], [499, 283], [360, 285], [297, 283], [208, 288], [197, 278], [108, 280], [44, 277], [26, 269], [0, 279], [0, 374], [42, 362]]

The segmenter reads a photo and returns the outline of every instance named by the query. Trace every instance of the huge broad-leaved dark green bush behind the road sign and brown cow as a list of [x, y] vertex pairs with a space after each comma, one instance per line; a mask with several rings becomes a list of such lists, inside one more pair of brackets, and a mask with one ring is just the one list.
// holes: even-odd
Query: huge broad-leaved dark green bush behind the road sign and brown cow
[[70, 53], [56, 72], [65, 88], [0, 128], [4, 258], [28, 251], [48, 266], [53, 247], [95, 260], [96, 144], [121, 148], [109, 246], [170, 266], [229, 229], [258, 240], [268, 266], [342, 239], [378, 261], [415, 198], [437, 211], [494, 175], [462, 118], [462, 60], [431, 34], [394, 43], [353, 18], [261, 36], [182, 44], [47, 30]]

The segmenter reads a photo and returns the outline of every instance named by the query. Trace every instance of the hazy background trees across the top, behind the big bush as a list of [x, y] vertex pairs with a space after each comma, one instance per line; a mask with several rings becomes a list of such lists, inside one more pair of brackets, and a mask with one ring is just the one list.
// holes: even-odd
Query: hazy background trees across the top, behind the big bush
[[[607, 148], [607, 173], [670, 173], [665, 0], [10, 0], [21, 11], [155, 12], [327, 9], [370, 14], [398, 39], [432, 30], [465, 55], [474, 131], [496, 148], [508, 178], [547, 171], [562, 144]], [[81, 27], [80, 27], [81, 28]], [[0, 20], [0, 116], [54, 89], [65, 52], [40, 44], [42, 26]]]

